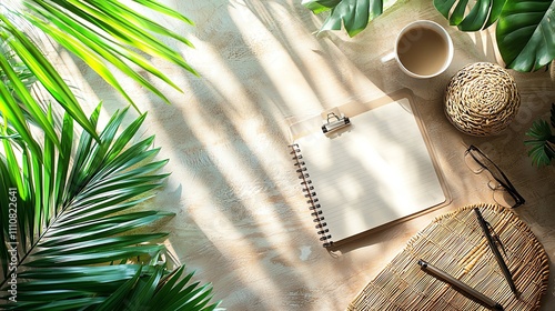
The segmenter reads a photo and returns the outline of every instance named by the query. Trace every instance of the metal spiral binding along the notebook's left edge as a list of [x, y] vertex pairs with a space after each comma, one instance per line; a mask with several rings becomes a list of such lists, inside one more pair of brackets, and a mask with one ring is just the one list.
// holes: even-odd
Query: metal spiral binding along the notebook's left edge
[[[302, 161], [303, 156], [301, 154], [301, 149], [299, 144], [290, 146], [293, 151], [291, 154], [294, 154], [292, 158], [295, 161], [295, 167], [297, 167], [296, 172], [299, 173], [299, 179], [302, 180], [301, 185], [303, 185], [304, 198], [306, 198], [306, 203], [309, 204], [309, 209], [312, 211], [311, 215], [314, 218], [313, 221], [316, 223], [315, 228], [317, 230], [317, 234], [320, 235], [320, 241], [324, 242], [323, 247], [331, 247], [331, 238], [330, 230], [325, 228], [327, 223], [324, 221], [324, 215], [322, 210], [320, 209], [319, 200], [316, 198], [316, 191], [314, 190], [314, 185], [312, 185], [312, 180], [310, 180], [310, 174], [306, 170], [304, 161]], [[330, 241], [329, 241], [330, 240]]]

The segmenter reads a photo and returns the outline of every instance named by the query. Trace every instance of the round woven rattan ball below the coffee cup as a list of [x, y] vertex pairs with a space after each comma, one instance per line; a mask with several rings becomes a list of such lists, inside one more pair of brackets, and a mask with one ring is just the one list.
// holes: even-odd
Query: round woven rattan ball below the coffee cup
[[493, 136], [515, 118], [521, 97], [514, 78], [502, 67], [476, 62], [451, 78], [445, 92], [445, 114], [464, 133]]

